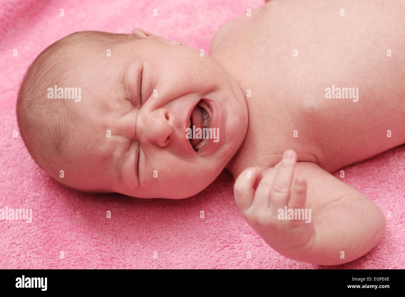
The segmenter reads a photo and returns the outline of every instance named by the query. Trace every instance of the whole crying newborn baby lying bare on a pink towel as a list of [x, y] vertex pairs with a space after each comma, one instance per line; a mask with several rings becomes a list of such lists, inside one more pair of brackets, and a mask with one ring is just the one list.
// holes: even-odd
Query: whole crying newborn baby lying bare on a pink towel
[[45, 49], [17, 99], [37, 164], [82, 191], [192, 196], [228, 169], [275, 251], [335, 265], [382, 238], [381, 211], [330, 173], [405, 143], [403, 0], [271, 0], [210, 56], [134, 29]]

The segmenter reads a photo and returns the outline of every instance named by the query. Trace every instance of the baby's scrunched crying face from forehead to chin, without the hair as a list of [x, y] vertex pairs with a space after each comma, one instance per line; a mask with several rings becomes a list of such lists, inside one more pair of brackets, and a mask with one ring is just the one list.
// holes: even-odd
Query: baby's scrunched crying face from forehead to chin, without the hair
[[[113, 48], [111, 57], [105, 53], [89, 47], [78, 55], [81, 101], [69, 103], [81, 126], [71, 152], [79, 160], [75, 171], [85, 176], [81, 190], [93, 190], [89, 181], [139, 198], [185, 198], [203, 190], [247, 131], [237, 83], [200, 51], [154, 38], [134, 38]], [[186, 137], [193, 125], [216, 134], [198, 145], [201, 139]]]

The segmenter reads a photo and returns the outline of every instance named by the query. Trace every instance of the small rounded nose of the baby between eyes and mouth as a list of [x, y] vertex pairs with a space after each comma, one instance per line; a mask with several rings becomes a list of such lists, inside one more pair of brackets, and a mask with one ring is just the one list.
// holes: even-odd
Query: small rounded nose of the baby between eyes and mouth
[[166, 108], [159, 108], [145, 115], [141, 125], [142, 135], [145, 135], [149, 142], [156, 143], [160, 147], [170, 143], [174, 129], [169, 122], [169, 112]]

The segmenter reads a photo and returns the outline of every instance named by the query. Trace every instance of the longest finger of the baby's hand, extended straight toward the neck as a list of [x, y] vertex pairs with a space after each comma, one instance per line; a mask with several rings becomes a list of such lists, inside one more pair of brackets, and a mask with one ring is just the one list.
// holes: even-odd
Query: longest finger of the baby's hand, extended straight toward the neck
[[274, 178], [273, 186], [271, 187], [271, 211], [277, 212], [277, 209], [287, 206], [296, 161], [297, 154], [293, 150], [284, 152], [283, 159], [280, 161], [278, 172]]

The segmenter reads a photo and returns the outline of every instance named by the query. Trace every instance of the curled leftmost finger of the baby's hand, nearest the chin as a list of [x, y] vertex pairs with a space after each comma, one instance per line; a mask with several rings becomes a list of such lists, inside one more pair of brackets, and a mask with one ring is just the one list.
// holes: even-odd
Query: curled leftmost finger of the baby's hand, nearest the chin
[[241, 212], [246, 211], [253, 202], [256, 181], [260, 179], [262, 170], [259, 167], [246, 168], [235, 181], [233, 192], [236, 205]]

